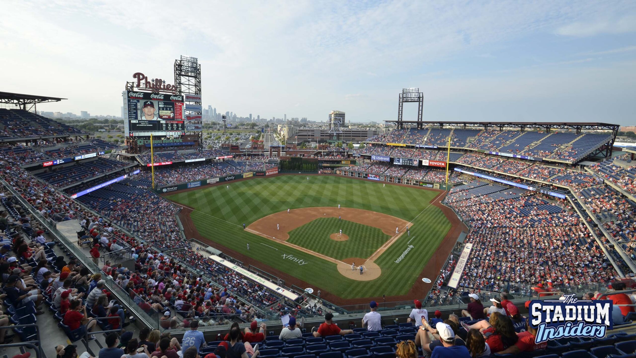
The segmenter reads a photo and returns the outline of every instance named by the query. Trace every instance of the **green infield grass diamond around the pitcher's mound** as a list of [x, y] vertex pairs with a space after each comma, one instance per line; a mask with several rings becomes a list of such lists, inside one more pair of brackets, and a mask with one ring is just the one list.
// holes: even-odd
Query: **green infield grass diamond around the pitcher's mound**
[[[347, 241], [335, 241], [329, 235], [338, 233], [349, 236]], [[338, 218], [317, 218], [289, 232], [288, 243], [308, 248], [319, 254], [344, 260], [349, 257], [366, 259], [373, 255], [391, 236], [377, 227], [358, 224]]]

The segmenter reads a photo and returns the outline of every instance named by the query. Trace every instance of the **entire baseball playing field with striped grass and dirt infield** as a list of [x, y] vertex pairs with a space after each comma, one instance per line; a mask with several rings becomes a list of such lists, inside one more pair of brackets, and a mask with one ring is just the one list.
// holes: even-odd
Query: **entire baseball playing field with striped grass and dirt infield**
[[167, 198], [184, 207], [186, 234], [342, 304], [388, 301], [422, 288], [422, 277], [435, 278], [450, 252], [436, 255], [452, 227], [442, 196], [342, 176], [277, 175]]

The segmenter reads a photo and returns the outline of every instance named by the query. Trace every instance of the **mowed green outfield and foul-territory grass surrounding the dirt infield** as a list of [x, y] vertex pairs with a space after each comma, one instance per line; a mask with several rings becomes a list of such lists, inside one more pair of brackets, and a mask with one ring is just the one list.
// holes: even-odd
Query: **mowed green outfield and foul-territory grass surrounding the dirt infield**
[[[289, 273], [314, 288], [342, 298], [406, 294], [450, 229], [450, 222], [442, 211], [436, 206], [429, 206], [439, 192], [401, 185], [382, 187], [382, 182], [341, 176], [310, 176], [309, 179], [301, 175], [253, 178], [174, 194], [168, 198], [195, 209], [191, 218], [199, 233], [206, 238]], [[230, 185], [230, 189], [226, 189], [226, 185]], [[380, 278], [350, 280], [338, 273], [333, 262], [248, 233], [242, 228], [242, 224], [249, 225], [261, 217], [288, 208], [338, 204], [412, 220], [411, 236], [401, 236], [375, 261], [382, 269]], [[251, 250], [247, 250], [247, 243]], [[413, 246], [410, 252], [401, 261], [395, 262], [409, 245]], [[308, 264], [299, 265], [283, 255], [292, 255]], [[363, 252], [347, 255], [368, 256]], [[436, 272], [431, 272], [429, 276], [434, 278], [436, 275]]]

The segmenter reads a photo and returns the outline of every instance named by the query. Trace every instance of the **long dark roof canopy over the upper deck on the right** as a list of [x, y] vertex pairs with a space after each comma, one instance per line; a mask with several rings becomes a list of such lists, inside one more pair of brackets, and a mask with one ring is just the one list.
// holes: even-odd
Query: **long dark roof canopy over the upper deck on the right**
[[574, 129], [576, 132], [580, 132], [581, 129], [596, 130], [596, 131], [613, 131], [614, 135], [618, 132], [620, 125], [600, 123], [600, 122], [455, 122], [455, 121], [417, 121], [417, 120], [385, 120], [387, 123], [395, 124], [398, 128], [403, 128], [406, 125], [415, 125], [417, 128], [426, 126], [439, 126], [439, 127], [463, 127], [464, 129], [473, 128], [518, 128], [522, 131], [530, 128], [544, 129], [546, 132], [550, 132], [551, 129]]

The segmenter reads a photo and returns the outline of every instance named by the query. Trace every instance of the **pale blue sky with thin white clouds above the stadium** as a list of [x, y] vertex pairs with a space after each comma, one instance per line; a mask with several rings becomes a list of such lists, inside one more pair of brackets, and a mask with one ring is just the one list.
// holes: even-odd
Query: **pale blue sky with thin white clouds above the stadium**
[[[120, 113], [132, 74], [202, 64], [204, 105], [261, 117], [636, 125], [636, 1], [4, 1], [0, 90]], [[404, 118], [415, 118], [415, 104]]]

